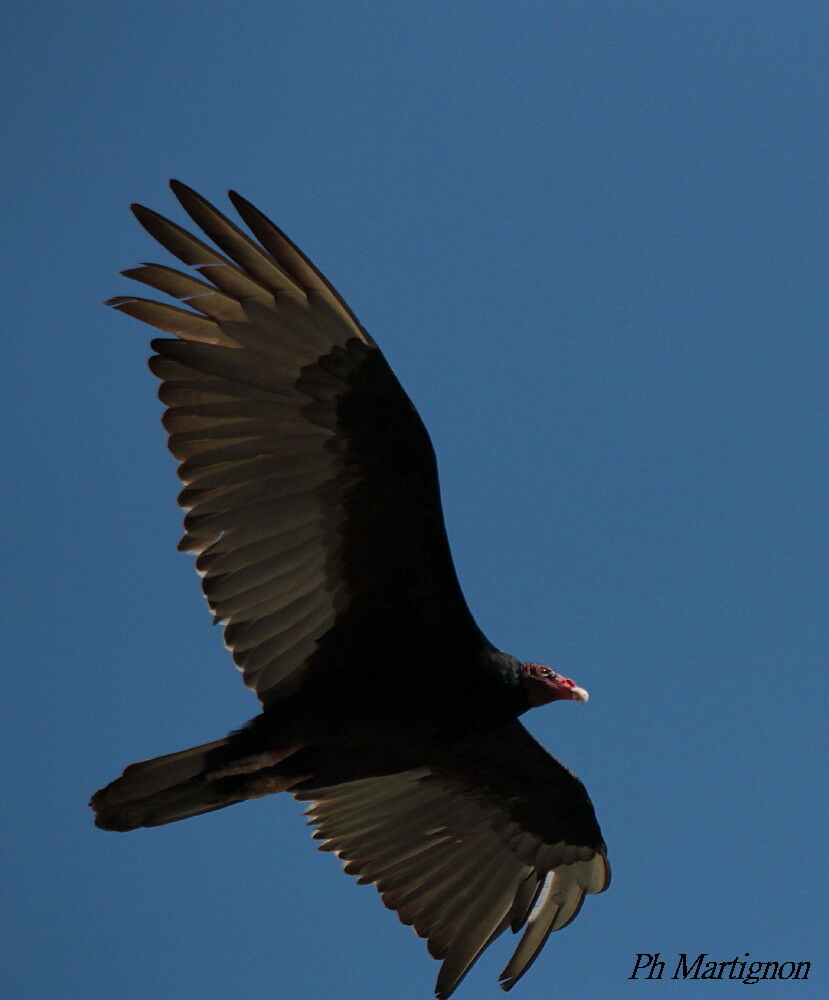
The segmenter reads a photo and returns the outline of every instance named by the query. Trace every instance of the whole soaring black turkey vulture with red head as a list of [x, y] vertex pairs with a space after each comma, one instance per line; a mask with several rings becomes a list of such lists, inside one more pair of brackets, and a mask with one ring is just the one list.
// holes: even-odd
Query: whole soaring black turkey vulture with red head
[[610, 880], [584, 786], [518, 722], [587, 692], [475, 624], [426, 429], [334, 288], [235, 192], [255, 239], [171, 186], [221, 252], [134, 205], [200, 277], [142, 264], [123, 273], [191, 308], [109, 304], [174, 335], [150, 368], [184, 481], [179, 548], [262, 713], [132, 764], [92, 797], [95, 822], [133, 830], [290, 791], [321, 848], [443, 960], [437, 997], [523, 928], [510, 989]]

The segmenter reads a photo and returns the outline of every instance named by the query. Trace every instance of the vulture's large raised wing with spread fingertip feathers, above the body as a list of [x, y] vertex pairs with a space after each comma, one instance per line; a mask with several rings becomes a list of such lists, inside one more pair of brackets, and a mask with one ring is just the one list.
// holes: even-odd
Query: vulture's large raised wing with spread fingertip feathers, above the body
[[207, 281], [144, 264], [124, 273], [196, 311], [110, 304], [178, 338], [153, 341], [150, 367], [185, 483], [180, 548], [198, 553], [245, 682], [270, 704], [309, 671], [388, 661], [436, 628], [449, 647], [485, 642], [455, 576], [429, 437], [374, 341], [247, 201], [231, 193], [259, 243], [172, 187], [227, 256], [133, 206]]

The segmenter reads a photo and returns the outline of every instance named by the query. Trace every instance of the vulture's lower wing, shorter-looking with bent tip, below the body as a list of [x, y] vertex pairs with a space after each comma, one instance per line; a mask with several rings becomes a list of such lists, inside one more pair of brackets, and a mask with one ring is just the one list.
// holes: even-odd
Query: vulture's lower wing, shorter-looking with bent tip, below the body
[[429, 768], [295, 793], [321, 849], [373, 882], [429, 952], [448, 997], [507, 927], [524, 934], [501, 974], [508, 990], [610, 866], [584, 785], [519, 722]]

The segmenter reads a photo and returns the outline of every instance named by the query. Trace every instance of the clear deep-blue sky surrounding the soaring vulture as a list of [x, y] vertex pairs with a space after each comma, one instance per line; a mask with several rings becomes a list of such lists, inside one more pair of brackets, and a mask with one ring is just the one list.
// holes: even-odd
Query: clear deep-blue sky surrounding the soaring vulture
[[[4, 990], [418, 1000], [437, 964], [298, 805], [129, 835], [89, 793], [257, 711], [178, 555], [127, 211], [235, 187], [429, 427], [489, 637], [614, 882], [520, 1000], [742, 996], [637, 952], [826, 954], [825, 3], [18, 4], [4, 22]], [[459, 997], [494, 998], [510, 942]]]

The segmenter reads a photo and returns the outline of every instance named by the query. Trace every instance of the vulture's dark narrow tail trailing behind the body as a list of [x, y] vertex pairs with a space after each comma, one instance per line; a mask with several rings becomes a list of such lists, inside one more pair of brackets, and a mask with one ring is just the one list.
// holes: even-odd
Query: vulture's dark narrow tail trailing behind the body
[[298, 748], [251, 746], [246, 732], [188, 750], [130, 764], [90, 801], [103, 830], [162, 826], [223, 809], [245, 799], [285, 791], [307, 777], [280, 764]]

